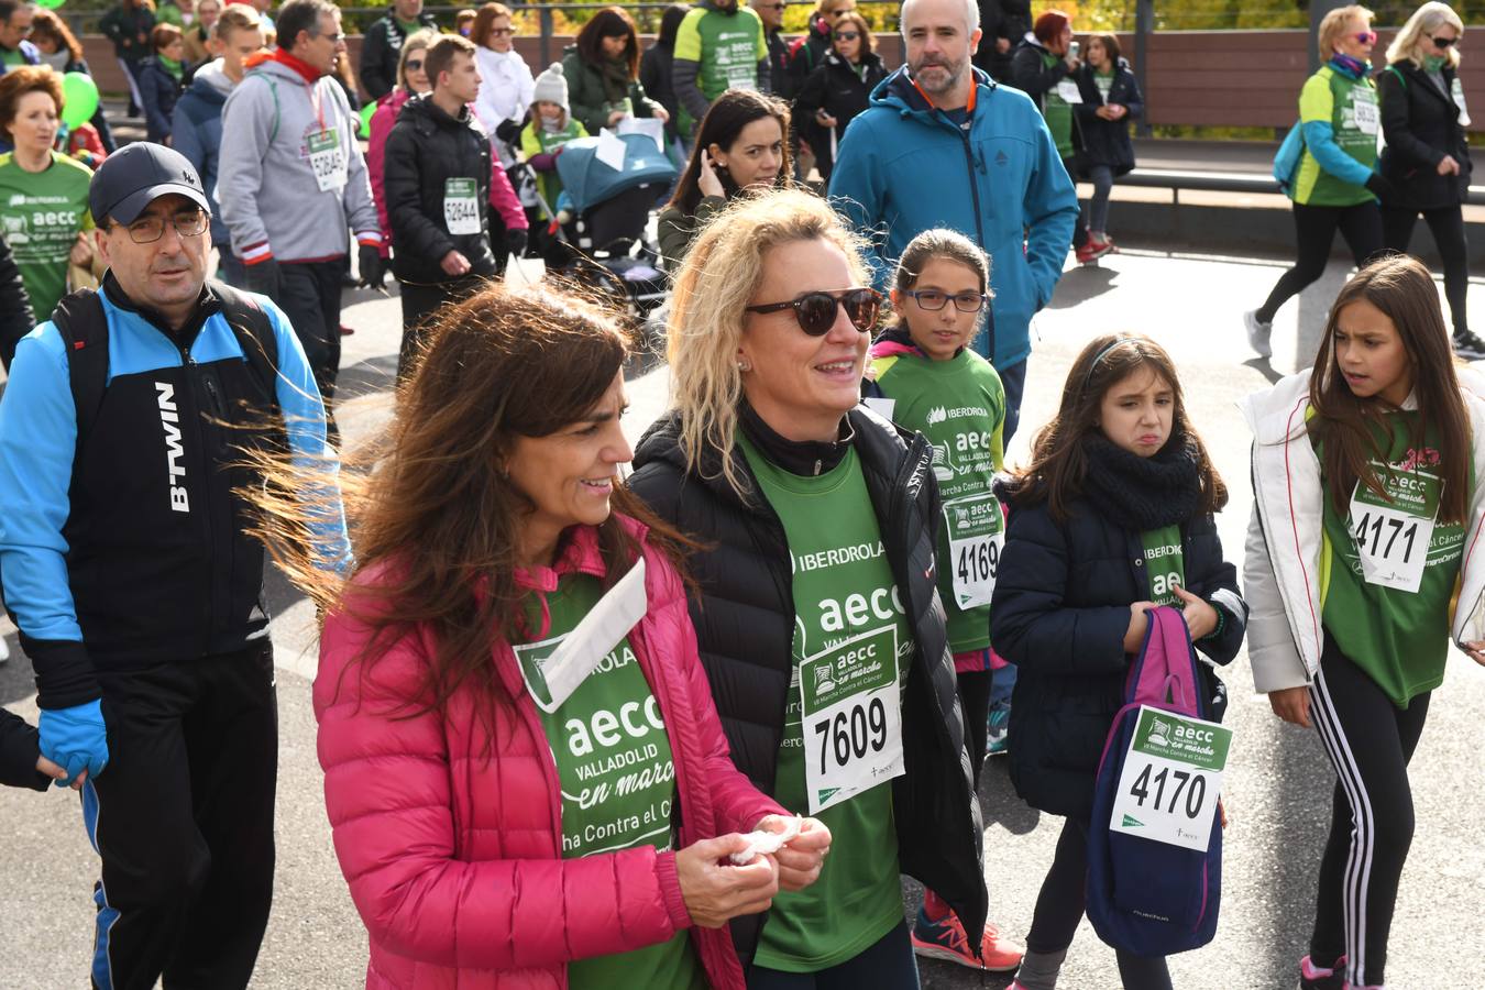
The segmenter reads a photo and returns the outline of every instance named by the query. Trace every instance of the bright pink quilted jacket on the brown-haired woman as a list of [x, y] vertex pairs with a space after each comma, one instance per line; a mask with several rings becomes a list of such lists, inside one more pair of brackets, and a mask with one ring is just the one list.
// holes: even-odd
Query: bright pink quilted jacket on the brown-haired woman
[[[630, 643], [670, 733], [683, 849], [786, 812], [732, 766], [682, 582], [647, 548], [644, 561], [649, 612]], [[593, 528], [573, 531], [555, 570], [523, 577], [552, 591], [563, 573], [601, 576]], [[557, 767], [508, 646], [492, 662], [514, 701], [490, 739], [472, 692], [443, 712], [395, 718], [432, 643], [416, 632], [362, 668], [352, 660], [367, 635], [345, 614], [325, 620], [315, 717], [336, 855], [370, 932], [368, 990], [566, 987], [570, 959], [691, 926], [674, 852], [561, 858]], [[695, 928], [691, 938], [711, 984], [742, 990], [728, 929]]]

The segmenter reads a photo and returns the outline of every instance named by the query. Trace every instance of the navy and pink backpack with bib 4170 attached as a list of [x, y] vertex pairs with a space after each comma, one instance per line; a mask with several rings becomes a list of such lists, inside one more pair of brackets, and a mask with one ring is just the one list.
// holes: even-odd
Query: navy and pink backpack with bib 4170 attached
[[1099, 760], [1089, 828], [1087, 914], [1106, 944], [1139, 956], [1170, 956], [1216, 935], [1222, 824], [1213, 821], [1206, 852], [1109, 828], [1140, 705], [1212, 720], [1181, 612], [1163, 607], [1146, 614], [1145, 644], [1124, 681], [1124, 707], [1114, 715]]

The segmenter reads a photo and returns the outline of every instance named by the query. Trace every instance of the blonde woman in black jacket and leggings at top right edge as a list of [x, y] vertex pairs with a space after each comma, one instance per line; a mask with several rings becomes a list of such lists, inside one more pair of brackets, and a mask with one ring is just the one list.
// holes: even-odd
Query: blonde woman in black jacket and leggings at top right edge
[[1470, 248], [1464, 239], [1464, 197], [1470, 189], [1470, 114], [1457, 76], [1464, 22], [1443, 3], [1418, 7], [1387, 49], [1377, 77], [1383, 104], [1381, 174], [1394, 193], [1383, 199], [1383, 242], [1408, 252], [1423, 214], [1443, 257], [1443, 294], [1454, 318], [1454, 353], [1485, 358], [1485, 340], [1470, 332], [1464, 297]]

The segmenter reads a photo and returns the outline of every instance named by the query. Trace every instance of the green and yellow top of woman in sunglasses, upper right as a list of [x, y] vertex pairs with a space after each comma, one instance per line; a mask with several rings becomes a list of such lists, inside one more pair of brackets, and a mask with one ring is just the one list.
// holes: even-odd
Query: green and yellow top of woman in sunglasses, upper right
[[[1331, 65], [1322, 65], [1299, 91], [1301, 126], [1316, 120], [1329, 123], [1336, 145], [1366, 168], [1377, 163], [1380, 119], [1377, 86], [1369, 79], [1351, 79]], [[1372, 199], [1365, 186], [1354, 186], [1322, 169], [1305, 147], [1295, 175], [1296, 203], [1356, 206]]]

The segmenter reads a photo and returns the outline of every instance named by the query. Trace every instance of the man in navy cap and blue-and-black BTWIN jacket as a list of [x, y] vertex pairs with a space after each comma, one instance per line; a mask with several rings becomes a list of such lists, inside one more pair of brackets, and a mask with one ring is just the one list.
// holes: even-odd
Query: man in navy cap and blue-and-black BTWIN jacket
[[[0, 574], [39, 747], [102, 859], [94, 987], [245, 987], [273, 894], [278, 712], [254, 454], [333, 465], [294, 330], [206, 281], [206, 194], [137, 142], [94, 174], [101, 288], [21, 340], [0, 399]], [[318, 490], [315, 490], [318, 488]], [[346, 560], [334, 490], [321, 552]]]

